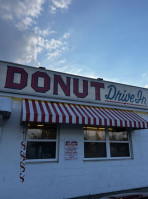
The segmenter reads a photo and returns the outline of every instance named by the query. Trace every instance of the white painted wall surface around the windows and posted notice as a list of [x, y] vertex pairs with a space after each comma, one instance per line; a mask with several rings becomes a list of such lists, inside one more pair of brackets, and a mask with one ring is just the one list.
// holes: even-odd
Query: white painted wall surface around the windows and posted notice
[[[0, 198], [66, 199], [148, 186], [148, 130], [132, 133], [134, 159], [83, 161], [83, 131], [74, 125], [60, 126], [58, 162], [26, 163], [22, 183], [20, 113], [21, 100], [13, 99], [0, 139]], [[78, 141], [77, 160], [64, 160], [65, 140]]]

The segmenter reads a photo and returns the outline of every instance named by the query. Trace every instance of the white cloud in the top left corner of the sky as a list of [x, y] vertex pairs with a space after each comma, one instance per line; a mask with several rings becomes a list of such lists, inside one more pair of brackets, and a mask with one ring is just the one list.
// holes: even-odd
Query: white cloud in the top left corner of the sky
[[0, 0], [0, 17], [11, 20], [20, 30], [27, 29], [37, 18], [45, 0]]

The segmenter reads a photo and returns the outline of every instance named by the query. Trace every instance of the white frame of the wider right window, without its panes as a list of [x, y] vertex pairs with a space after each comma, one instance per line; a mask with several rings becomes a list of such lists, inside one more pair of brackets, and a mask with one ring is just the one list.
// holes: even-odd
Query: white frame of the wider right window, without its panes
[[[85, 126], [85, 127], [91, 127], [91, 126]], [[92, 126], [92, 128], [93, 128], [94, 126]], [[101, 127], [101, 126], [99, 126], [99, 127]], [[98, 128], [99, 128], [98, 127]], [[105, 127], [105, 138], [106, 138], [106, 140], [85, 140], [84, 139], [84, 127], [83, 127], [83, 144], [85, 143], [85, 142], [104, 142], [104, 143], [106, 143], [106, 157], [97, 157], [97, 158], [85, 158], [84, 156], [85, 156], [85, 149], [84, 149], [84, 145], [83, 145], [83, 152], [84, 152], [84, 154], [83, 154], [83, 160], [85, 161], [91, 161], [91, 160], [121, 160], [121, 159], [132, 159], [133, 158], [133, 149], [132, 149], [132, 137], [131, 137], [131, 133], [132, 133], [132, 130], [130, 129], [130, 128], [126, 128], [126, 130], [127, 130], [127, 134], [128, 134], [128, 140], [127, 141], [111, 141], [110, 139], [109, 139], [109, 128], [110, 127], [108, 127], [108, 126], [106, 126]], [[114, 127], [112, 127], [112, 128], [114, 128]], [[120, 128], [120, 127], [119, 127]], [[128, 145], [129, 145], [129, 156], [125, 156], [125, 157], [111, 157], [111, 149], [110, 149], [110, 143], [128, 143]]]

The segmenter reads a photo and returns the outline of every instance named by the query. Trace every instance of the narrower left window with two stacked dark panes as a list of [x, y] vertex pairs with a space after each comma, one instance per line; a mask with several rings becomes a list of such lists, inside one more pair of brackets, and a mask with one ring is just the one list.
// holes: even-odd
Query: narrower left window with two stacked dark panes
[[57, 126], [29, 124], [27, 130], [26, 159], [57, 158]]

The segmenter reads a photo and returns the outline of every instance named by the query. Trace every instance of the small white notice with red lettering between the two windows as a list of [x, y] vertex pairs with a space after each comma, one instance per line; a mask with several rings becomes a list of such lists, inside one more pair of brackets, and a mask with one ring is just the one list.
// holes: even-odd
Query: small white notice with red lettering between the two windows
[[65, 141], [65, 160], [77, 160], [78, 142], [74, 140]]

